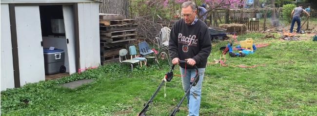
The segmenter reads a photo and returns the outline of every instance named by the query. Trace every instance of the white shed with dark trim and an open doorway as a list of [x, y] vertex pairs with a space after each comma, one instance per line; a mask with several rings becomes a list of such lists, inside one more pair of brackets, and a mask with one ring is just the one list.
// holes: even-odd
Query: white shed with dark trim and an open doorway
[[1, 0], [1, 91], [45, 80], [43, 48], [63, 49], [69, 74], [99, 66], [99, 42], [98, 0]]

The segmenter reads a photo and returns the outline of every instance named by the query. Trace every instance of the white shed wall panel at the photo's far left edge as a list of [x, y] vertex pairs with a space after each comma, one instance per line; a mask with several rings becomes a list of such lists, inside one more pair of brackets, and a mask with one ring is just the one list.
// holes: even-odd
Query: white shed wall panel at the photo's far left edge
[[14, 88], [9, 5], [1, 4], [1, 91]]

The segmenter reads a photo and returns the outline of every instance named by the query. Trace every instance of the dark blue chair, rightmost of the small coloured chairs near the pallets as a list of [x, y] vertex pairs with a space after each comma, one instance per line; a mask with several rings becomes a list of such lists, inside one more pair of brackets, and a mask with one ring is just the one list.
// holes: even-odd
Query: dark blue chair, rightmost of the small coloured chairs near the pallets
[[[139, 43], [139, 53], [140, 53], [141, 57], [144, 57], [147, 59], [148, 58], [155, 58], [156, 63], [158, 63], [158, 58], [156, 57], [154, 51], [150, 49], [150, 47], [146, 41]], [[153, 56], [149, 56], [150, 54], [152, 54]]]

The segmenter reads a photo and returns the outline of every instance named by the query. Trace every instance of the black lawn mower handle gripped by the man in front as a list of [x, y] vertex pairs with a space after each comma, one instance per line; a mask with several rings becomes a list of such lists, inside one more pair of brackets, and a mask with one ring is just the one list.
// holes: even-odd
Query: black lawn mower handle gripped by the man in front
[[[179, 60], [179, 63], [187, 63], [187, 61]], [[154, 92], [154, 94], [153, 94], [152, 97], [149, 99], [149, 101], [148, 101], [147, 103], [144, 103], [144, 105], [143, 105], [144, 107], [143, 107], [143, 109], [141, 110], [141, 112], [139, 113], [138, 116], [146, 116], [145, 113], [146, 113], [147, 111], [149, 111], [149, 110], [152, 109], [152, 100], [153, 100], [153, 98], [158, 94], [158, 91], [159, 91], [159, 89], [161, 88], [161, 86], [163, 85], [163, 83], [164, 83], [165, 81], [170, 82], [170, 81], [172, 80], [174, 67], [175, 67], [175, 65], [172, 66], [172, 68], [171, 68], [171, 70], [170, 70], [169, 72], [166, 72], [166, 73], [165, 73], [165, 76], [164, 76], [165, 79], [163, 79], [162, 82], [159, 84], [158, 89]], [[191, 89], [193, 86], [196, 86], [196, 84], [197, 84], [197, 82], [198, 82], [198, 80], [199, 80], [199, 75], [198, 75], [199, 72], [198, 72], [198, 68], [197, 68], [196, 65], [194, 65], [194, 68], [197, 70], [196, 76], [191, 78], [191, 80], [190, 80], [190, 84], [191, 84], [191, 85], [190, 85], [189, 89], [186, 91], [185, 95], [180, 99], [180, 101], [179, 101], [178, 104], [174, 107], [174, 109], [171, 109], [171, 111], [172, 111], [172, 110], [173, 110], [173, 111], [170, 112], [170, 115], [169, 115], [169, 116], [175, 116], [175, 114], [176, 114], [177, 112], [179, 112], [180, 104], [184, 101], [186, 95], [189, 94], [190, 89]], [[185, 70], [186, 70], [186, 69], [185, 69]], [[149, 108], [149, 104], [151, 104], [150, 109], [148, 109], [148, 108]]]

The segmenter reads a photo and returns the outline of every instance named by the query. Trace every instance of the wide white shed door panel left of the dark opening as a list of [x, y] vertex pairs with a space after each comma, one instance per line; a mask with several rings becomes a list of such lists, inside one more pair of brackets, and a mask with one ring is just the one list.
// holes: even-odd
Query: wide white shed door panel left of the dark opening
[[45, 80], [39, 6], [15, 6], [20, 85]]

